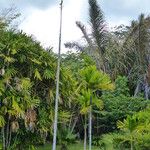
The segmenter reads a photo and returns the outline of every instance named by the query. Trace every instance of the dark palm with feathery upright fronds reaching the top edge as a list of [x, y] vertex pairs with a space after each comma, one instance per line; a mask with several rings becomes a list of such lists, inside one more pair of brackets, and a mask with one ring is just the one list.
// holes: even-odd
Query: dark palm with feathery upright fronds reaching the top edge
[[107, 45], [107, 31], [104, 15], [99, 7], [97, 0], [89, 0], [89, 18], [92, 33], [87, 33], [86, 27], [77, 21], [76, 25], [83, 33], [83, 36], [88, 45], [82, 46], [77, 42], [68, 42], [65, 44], [68, 48], [76, 48], [80, 51], [85, 51], [96, 62], [99, 70], [106, 71], [105, 64], [105, 49]]

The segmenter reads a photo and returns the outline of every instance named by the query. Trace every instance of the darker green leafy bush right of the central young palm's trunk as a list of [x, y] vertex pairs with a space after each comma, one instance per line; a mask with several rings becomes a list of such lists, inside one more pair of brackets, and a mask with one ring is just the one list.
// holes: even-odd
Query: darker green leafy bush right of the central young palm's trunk
[[114, 91], [103, 92], [101, 99], [104, 109], [97, 114], [100, 134], [116, 130], [118, 120], [145, 109], [149, 104], [149, 101], [144, 98], [129, 96], [127, 83], [125, 77], [118, 77]]

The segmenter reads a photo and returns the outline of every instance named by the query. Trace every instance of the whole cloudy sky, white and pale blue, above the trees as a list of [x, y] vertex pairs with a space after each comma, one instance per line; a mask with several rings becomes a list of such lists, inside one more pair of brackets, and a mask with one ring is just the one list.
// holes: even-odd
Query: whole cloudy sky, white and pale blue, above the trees
[[[128, 25], [137, 19], [139, 14], [150, 14], [150, 0], [97, 0], [100, 4], [105, 20], [109, 27], [120, 24]], [[58, 51], [60, 0], [0, 0], [0, 9], [16, 6], [21, 18], [19, 29], [33, 35], [44, 47], [53, 47]], [[87, 27], [88, 0], [64, 0], [62, 52], [64, 43], [81, 41], [82, 33], [75, 22], [81, 21]]]

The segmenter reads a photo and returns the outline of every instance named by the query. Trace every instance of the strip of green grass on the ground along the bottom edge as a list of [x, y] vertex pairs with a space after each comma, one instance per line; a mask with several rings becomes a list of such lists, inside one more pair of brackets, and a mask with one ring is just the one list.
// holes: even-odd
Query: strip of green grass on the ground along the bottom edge
[[[36, 150], [50, 150], [52, 148], [51, 144], [46, 144], [45, 146], [40, 146]], [[87, 147], [88, 149], [88, 147]], [[60, 150], [60, 147], [57, 147], [57, 150]], [[71, 144], [68, 145], [68, 150], [83, 150], [83, 143]], [[92, 150], [100, 150], [98, 147], [92, 147]]]

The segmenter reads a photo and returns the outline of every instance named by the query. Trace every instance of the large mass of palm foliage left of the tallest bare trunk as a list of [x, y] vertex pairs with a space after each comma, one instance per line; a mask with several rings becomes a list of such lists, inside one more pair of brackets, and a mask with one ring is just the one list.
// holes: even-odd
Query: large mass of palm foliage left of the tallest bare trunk
[[[37, 41], [23, 32], [3, 30], [1, 33], [0, 69], [3, 75], [0, 75], [0, 122], [4, 128], [3, 137], [10, 143], [6, 143], [7, 147], [13, 146], [13, 149], [16, 149], [23, 145], [21, 136], [24, 135], [33, 138], [27, 138], [26, 144], [34, 145], [35, 141], [38, 143], [36, 137], [41, 139], [37, 135], [42, 135], [45, 130], [50, 131], [52, 122], [49, 118], [46, 125], [40, 119], [39, 125], [37, 119], [40, 114], [39, 105], [42, 103], [42, 106], [45, 106], [49, 99], [47, 87], [51, 88], [55, 84], [55, 60], [54, 55], [45, 51]], [[46, 70], [46, 75], [43, 70]], [[16, 132], [12, 134], [11, 128]], [[26, 131], [28, 129], [35, 132], [34, 136], [32, 132]]]

